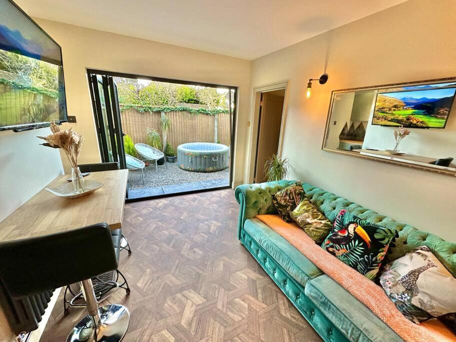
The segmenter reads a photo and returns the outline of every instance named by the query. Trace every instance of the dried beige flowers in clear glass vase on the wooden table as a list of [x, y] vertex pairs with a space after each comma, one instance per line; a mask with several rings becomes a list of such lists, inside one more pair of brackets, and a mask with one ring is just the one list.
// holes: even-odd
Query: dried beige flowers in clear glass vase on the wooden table
[[41, 145], [60, 148], [65, 152], [72, 168], [73, 188], [76, 193], [84, 192], [84, 178], [78, 167], [78, 157], [84, 143], [84, 135], [78, 135], [73, 131], [73, 128], [61, 131], [54, 121], [51, 122], [51, 132], [52, 134], [46, 137], [38, 137], [46, 141]]

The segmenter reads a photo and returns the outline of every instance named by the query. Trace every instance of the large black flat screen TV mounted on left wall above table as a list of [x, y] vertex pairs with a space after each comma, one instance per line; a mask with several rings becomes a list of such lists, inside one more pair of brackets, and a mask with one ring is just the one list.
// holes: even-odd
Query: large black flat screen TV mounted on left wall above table
[[11, 0], [0, 0], [0, 131], [67, 121], [62, 49]]

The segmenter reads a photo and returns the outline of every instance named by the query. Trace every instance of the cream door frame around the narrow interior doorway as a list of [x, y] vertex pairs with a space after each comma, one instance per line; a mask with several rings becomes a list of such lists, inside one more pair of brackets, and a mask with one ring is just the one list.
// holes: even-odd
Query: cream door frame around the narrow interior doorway
[[258, 128], [259, 128], [259, 117], [260, 117], [260, 101], [261, 93], [271, 92], [274, 90], [285, 90], [283, 98], [283, 110], [282, 110], [282, 122], [280, 124], [280, 135], [279, 135], [279, 148], [277, 155], [282, 156], [283, 138], [285, 134], [285, 123], [287, 116], [288, 107], [288, 94], [290, 90], [290, 80], [268, 84], [265, 86], [255, 87], [252, 92], [252, 110], [250, 113], [250, 129], [249, 129], [249, 141], [248, 141], [248, 156], [247, 156], [247, 177], [246, 181], [248, 184], [253, 183], [253, 176], [255, 174], [255, 161], [256, 161], [256, 147], [258, 143]]

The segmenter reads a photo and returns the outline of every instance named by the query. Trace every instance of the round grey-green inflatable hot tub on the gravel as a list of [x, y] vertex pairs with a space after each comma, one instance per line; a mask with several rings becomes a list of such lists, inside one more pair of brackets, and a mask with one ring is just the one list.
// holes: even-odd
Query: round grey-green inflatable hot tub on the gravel
[[177, 163], [187, 171], [220, 171], [228, 167], [229, 151], [222, 144], [186, 143], [177, 147]]

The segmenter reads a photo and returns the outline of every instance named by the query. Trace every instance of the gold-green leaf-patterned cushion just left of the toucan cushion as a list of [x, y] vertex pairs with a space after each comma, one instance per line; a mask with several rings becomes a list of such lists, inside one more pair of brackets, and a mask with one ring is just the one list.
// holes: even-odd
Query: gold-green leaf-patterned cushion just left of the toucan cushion
[[319, 212], [306, 196], [303, 196], [301, 203], [290, 213], [290, 217], [318, 244], [332, 228], [331, 221]]

